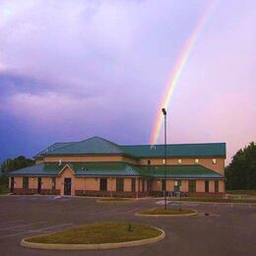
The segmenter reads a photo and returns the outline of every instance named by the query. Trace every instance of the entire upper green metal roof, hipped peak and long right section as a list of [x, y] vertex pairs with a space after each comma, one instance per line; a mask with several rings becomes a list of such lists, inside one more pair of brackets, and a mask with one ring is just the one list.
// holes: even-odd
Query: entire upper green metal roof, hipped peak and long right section
[[[225, 143], [168, 144], [167, 157], [170, 158], [225, 158]], [[99, 137], [81, 142], [56, 143], [35, 156], [43, 155], [129, 155], [133, 158], [162, 158], [164, 145], [119, 146]]]

